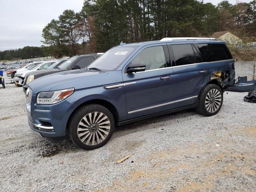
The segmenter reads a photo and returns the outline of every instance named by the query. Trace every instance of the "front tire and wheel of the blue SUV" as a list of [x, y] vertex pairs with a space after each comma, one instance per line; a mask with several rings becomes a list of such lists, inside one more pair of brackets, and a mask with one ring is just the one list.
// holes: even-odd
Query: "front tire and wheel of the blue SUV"
[[68, 133], [72, 142], [86, 150], [104, 146], [110, 140], [114, 129], [112, 113], [98, 104], [78, 108], [68, 124]]

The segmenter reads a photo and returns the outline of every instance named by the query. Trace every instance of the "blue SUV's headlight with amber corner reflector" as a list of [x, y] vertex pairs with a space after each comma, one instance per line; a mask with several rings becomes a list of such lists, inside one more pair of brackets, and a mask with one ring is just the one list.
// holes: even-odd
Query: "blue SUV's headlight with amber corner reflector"
[[45, 105], [58, 103], [70, 96], [74, 91], [74, 88], [70, 88], [58, 91], [40, 92], [37, 96], [36, 103]]

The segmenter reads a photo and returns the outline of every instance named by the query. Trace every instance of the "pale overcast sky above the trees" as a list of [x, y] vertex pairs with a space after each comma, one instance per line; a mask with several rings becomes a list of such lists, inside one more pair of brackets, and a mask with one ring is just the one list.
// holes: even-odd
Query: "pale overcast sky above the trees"
[[[236, 4], [237, 0], [229, 0]], [[240, 0], [250, 2], [252, 0]], [[0, 50], [41, 46], [42, 30], [66, 9], [79, 12], [84, 0], [0, 0]], [[221, 0], [204, 0], [217, 5]]]

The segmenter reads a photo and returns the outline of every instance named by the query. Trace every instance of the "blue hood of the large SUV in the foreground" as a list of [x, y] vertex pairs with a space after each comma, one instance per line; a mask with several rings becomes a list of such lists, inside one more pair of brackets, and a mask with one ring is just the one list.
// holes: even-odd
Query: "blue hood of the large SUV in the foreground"
[[50, 74], [29, 83], [33, 94], [67, 88], [84, 89], [122, 82], [121, 71], [70, 70]]

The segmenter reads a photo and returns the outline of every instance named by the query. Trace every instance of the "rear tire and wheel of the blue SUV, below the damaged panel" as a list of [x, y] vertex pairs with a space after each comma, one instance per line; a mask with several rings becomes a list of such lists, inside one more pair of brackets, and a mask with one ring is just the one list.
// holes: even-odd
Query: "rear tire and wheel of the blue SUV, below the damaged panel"
[[204, 116], [215, 115], [220, 111], [222, 102], [222, 89], [218, 85], [207, 84], [199, 95], [196, 111]]

